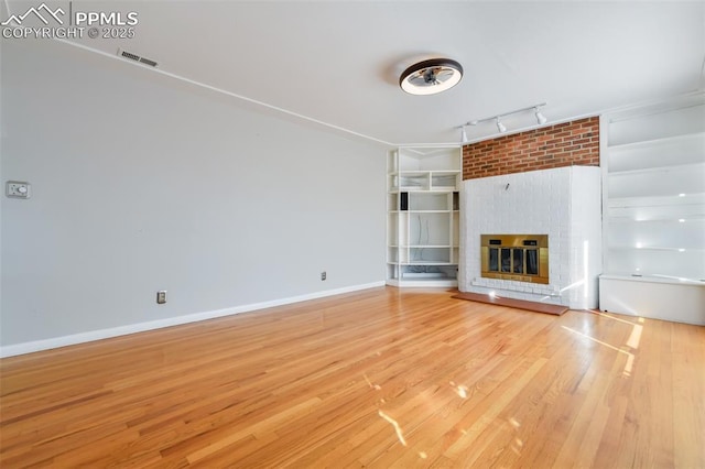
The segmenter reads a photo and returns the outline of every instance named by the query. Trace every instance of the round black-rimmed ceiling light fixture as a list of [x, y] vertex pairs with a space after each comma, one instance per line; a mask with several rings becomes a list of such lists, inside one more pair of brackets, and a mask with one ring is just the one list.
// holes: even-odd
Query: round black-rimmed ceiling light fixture
[[463, 78], [463, 66], [451, 58], [430, 58], [406, 68], [399, 86], [411, 95], [435, 95], [453, 88]]

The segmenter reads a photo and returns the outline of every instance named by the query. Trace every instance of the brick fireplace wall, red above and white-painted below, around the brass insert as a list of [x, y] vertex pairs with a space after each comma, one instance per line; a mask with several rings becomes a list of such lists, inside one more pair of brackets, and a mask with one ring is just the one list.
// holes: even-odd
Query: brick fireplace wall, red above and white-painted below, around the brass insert
[[[597, 306], [601, 271], [599, 119], [506, 135], [463, 149], [462, 292]], [[547, 283], [482, 275], [489, 234], [545, 233]]]

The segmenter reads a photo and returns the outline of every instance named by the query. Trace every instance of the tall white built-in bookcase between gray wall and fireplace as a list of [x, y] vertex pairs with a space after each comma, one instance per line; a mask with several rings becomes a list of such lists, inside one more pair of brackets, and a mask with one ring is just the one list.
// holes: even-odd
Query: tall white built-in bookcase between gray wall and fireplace
[[388, 155], [387, 283], [457, 286], [459, 148]]

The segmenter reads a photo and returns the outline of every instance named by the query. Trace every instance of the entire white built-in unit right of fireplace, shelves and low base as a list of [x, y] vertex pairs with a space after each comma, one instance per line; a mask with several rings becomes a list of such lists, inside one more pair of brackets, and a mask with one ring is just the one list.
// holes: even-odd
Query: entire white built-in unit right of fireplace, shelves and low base
[[[600, 134], [600, 308], [701, 324], [705, 320], [705, 98], [692, 96], [603, 116]], [[672, 296], [664, 293], [666, 288]], [[650, 296], [653, 292], [658, 298]], [[692, 301], [684, 305], [687, 297]], [[692, 312], [683, 316], [670, 316], [671, 309], [688, 308]]]

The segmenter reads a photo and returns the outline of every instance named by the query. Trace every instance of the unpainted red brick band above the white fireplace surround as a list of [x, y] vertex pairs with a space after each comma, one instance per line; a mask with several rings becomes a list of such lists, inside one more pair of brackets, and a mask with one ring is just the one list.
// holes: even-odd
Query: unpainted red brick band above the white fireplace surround
[[463, 179], [572, 165], [599, 166], [598, 117], [463, 146]]

